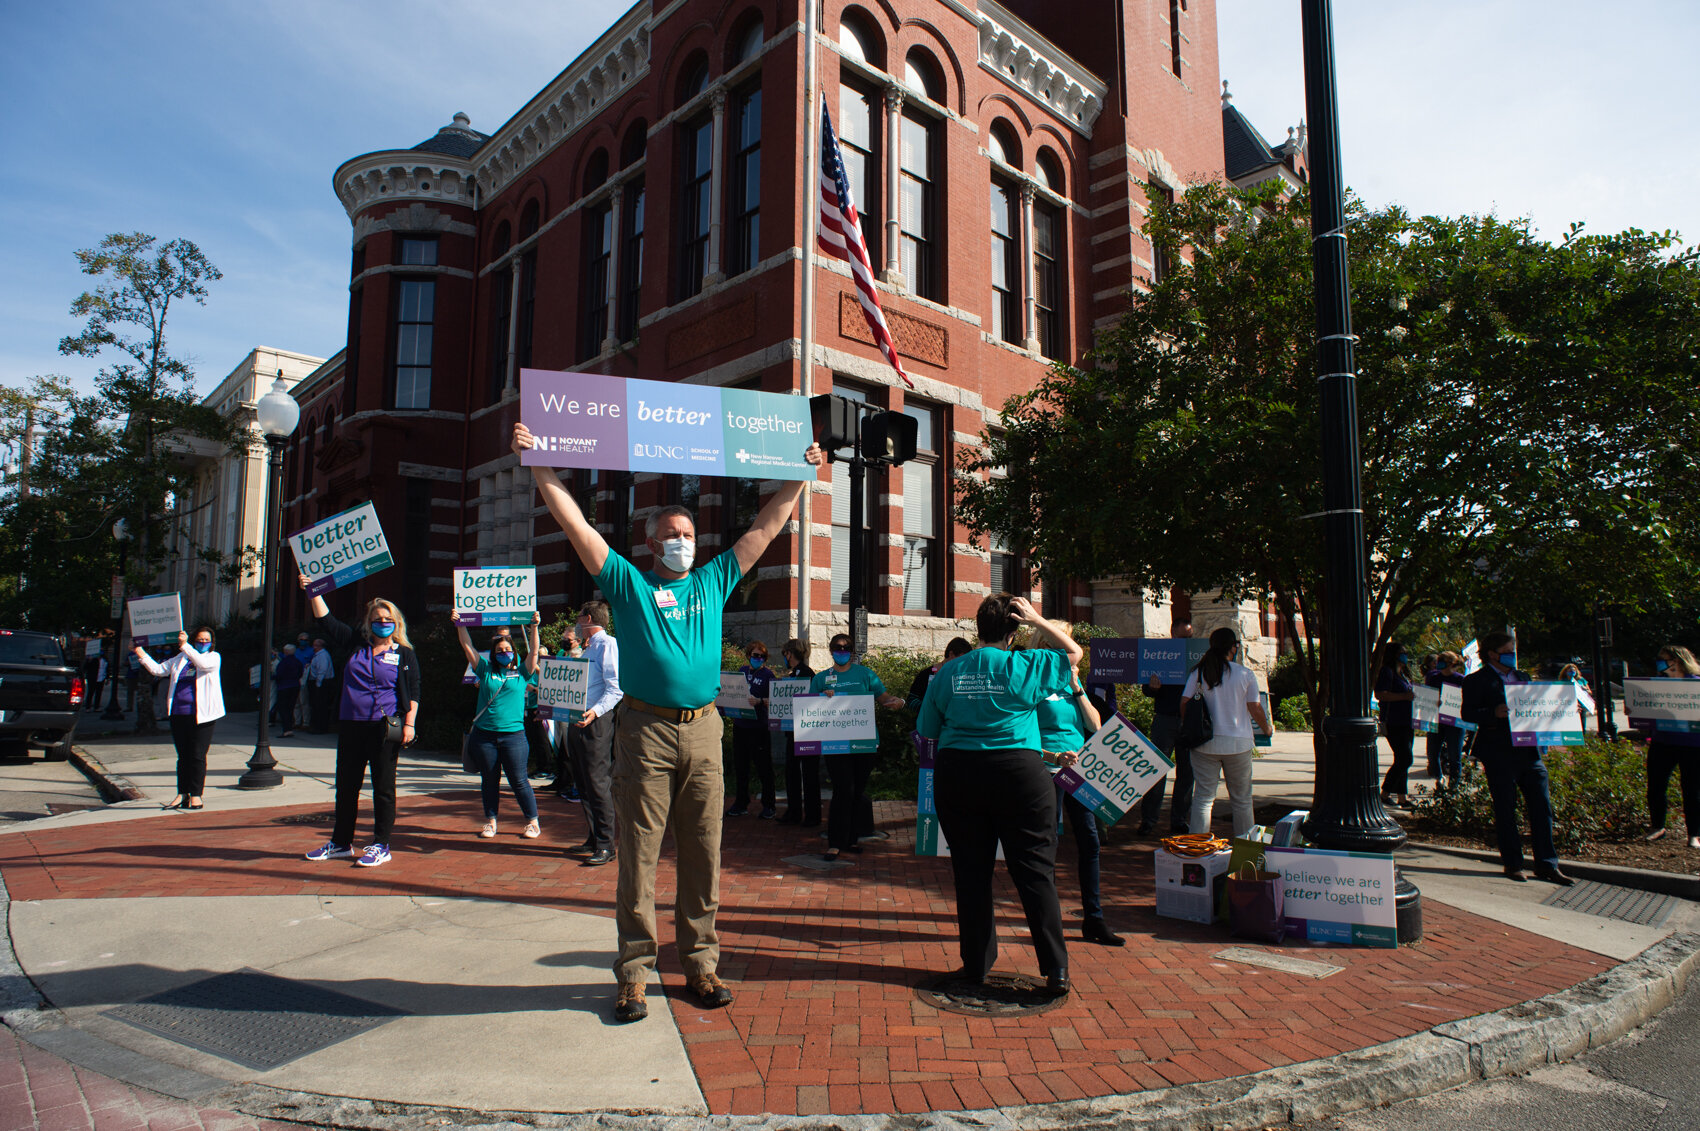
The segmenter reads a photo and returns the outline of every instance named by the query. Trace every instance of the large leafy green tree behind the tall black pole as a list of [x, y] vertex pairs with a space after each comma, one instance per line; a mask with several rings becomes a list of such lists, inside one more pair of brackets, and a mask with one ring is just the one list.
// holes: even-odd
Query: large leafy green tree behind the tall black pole
[[[1669, 233], [1537, 240], [1491, 216], [1353, 202], [1372, 643], [1556, 592], [1634, 602], [1693, 578], [1695, 257]], [[1272, 602], [1326, 701], [1321, 420], [1307, 199], [1153, 197], [1175, 269], [1081, 367], [1005, 406], [962, 517], [1064, 577]], [[1185, 255], [1182, 253], [1185, 252]], [[1692, 539], [1690, 539], [1692, 544]], [[1583, 612], [1578, 612], [1583, 616]]]

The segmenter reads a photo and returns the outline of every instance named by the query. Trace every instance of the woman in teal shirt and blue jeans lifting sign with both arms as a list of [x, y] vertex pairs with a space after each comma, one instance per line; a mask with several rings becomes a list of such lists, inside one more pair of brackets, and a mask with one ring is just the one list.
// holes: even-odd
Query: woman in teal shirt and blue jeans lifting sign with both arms
[[468, 745], [483, 767], [484, 827], [479, 837], [496, 835], [496, 804], [502, 799], [502, 774], [507, 772], [508, 786], [520, 803], [525, 816], [522, 837], [532, 838], [541, 828], [537, 825], [537, 798], [532, 794], [530, 776], [525, 772], [530, 762], [530, 742], [525, 738], [525, 689], [537, 682], [537, 614], [525, 626], [525, 670], [520, 672], [520, 658], [513, 650], [512, 636], [496, 636], [490, 641], [490, 658], [478, 655], [473, 638], [461, 624], [461, 614], [454, 617], [454, 631], [461, 636], [461, 651], [473, 665], [473, 677], [478, 680], [478, 714], [473, 716], [473, 733]]

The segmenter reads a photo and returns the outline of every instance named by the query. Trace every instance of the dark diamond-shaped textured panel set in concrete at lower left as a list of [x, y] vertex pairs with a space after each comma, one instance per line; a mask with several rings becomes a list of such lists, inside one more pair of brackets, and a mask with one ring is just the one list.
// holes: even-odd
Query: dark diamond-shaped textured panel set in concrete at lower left
[[257, 969], [214, 975], [105, 1010], [168, 1041], [269, 1071], [406, 1010]]

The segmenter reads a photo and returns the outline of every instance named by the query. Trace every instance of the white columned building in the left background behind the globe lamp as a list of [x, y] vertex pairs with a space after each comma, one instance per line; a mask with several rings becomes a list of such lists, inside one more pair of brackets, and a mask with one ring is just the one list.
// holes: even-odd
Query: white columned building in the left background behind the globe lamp
[[[262, 345], [202, 398], [202, 405], [250, 437], [246, 451], [199, 437], [165, 440], [192, 469], [192, 478], [177, 498], [156, 592], [182, 594], [187, 624], [223, 624], [231, 614], [257, 616], [257, 551], [265, 541], [267, 475], [265, 440], [255, 425], [253, 406], [279, 376], [289, 389], [323, 361]], [[236, 577], [226, 582], [231, 566]]]

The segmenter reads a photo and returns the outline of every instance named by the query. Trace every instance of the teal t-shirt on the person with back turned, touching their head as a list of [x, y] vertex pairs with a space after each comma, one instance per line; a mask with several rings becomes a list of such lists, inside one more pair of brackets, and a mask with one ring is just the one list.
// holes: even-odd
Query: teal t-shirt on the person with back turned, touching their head
[[926, 684], [916, 730], [945, 750], [1040, 750], [1039, 704], [1073, 691], [1061, 651], [976, 648]]

